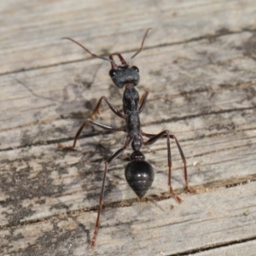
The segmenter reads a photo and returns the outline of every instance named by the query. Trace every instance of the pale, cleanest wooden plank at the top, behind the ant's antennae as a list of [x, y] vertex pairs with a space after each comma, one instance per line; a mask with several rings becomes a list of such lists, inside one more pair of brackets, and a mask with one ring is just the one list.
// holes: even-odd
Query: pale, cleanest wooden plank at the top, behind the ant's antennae
[[[0, 73], [84, 59], [82, 49], [61, 42], [73, 37], [98, 53], [137, 49], [147, 27], [147, 46], [253, 30], [253, 0], [210, 1], [41, 1], [0, 3]], [[131, 38], [131, 40], [127, 40]], [[97, 46], [97, 47], [96, 47]], [[85, 58], [88, 58], [85, 57]]]

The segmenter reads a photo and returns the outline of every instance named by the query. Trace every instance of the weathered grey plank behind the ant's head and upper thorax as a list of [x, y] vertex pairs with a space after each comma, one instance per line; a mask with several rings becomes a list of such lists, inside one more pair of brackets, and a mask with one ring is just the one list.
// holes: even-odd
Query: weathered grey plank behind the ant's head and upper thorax
[[[255, 61], [251, 55], [244, 55], [252, 38], [253, 33], [242, 32], [213, 42], [200, 40], [144, 50], [134, 61], [141, 70], [140, 94], [149, 90], [142, 113], [143, 127], [161, 124], [153, 132], [185, 131], [183, 139], [194, 139], [241, 125], [242, 111], [253, 110], [255, 106]], [[3, 76], [0, 147], [15, 148], [73, 137], [102, 95], [120, 109], [122, 90], [110, 82], [108, 65], [90, 60]], [[102, 106], [98, 120], [119, 125], [119, 119]], [[230, 123], [215, 117], [218, 113], [237, 111], [240, 113]], [[193, 121], [197, 116], [205, 121]], [[162, 125], [169, 121], [172, 126]], [[198, 129], [204, 123], [207, 129]], [[253, 129], [253, 124], [252, 120], [247, 125]], [[86, 132], [90, 134], [91, 129]]]

